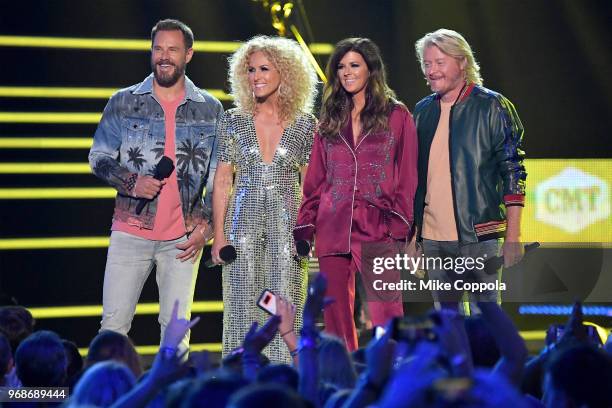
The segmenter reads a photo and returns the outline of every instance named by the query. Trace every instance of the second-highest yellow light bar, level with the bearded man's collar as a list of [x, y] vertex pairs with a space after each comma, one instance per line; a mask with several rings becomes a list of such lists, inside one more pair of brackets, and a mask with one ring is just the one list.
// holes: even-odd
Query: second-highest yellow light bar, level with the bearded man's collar
[[[0, 86], [0, 97], [108, 99], [117, 91], [116, 88]], [[223, 92], [222, 89], [207, 89], [207, 91], [222, 101], [232, 100], [231, 96]]]

